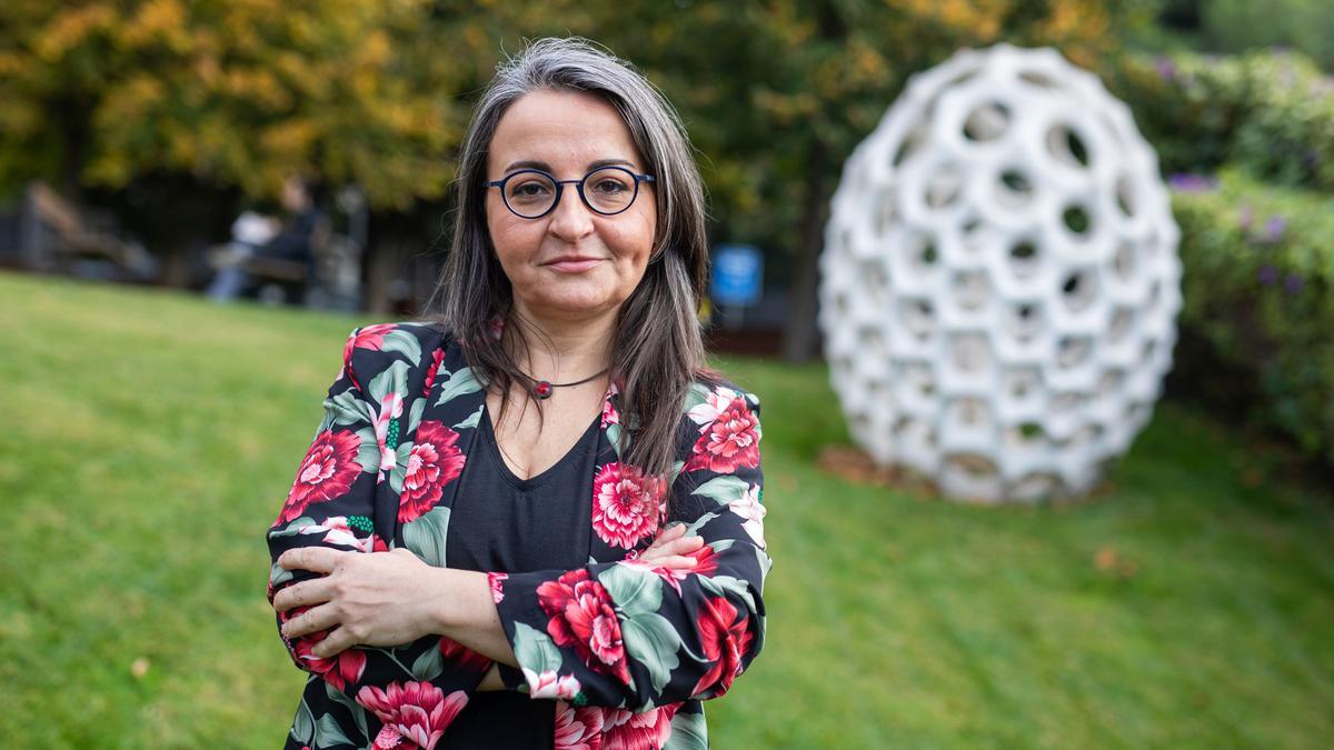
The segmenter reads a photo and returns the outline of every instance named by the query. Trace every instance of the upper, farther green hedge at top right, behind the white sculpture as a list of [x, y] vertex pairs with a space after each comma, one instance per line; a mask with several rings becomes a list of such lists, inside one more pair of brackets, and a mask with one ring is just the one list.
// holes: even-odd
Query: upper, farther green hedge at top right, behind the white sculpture
[[1235, 164], [1277, 184], [1334, 191], [1334, 79], [1303, 55], [1129, 55], [1107, 79], [1163, 172]]

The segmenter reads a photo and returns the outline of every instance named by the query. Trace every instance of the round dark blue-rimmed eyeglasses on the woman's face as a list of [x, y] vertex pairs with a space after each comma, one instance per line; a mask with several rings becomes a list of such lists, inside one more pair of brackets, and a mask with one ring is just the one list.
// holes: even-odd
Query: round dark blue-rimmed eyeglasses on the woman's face
[[515, 216], [542, 219], [560, 203], [566, 185], [575, 185], [579, 198], [594, 214], [615, 216], [635, 202], [639, 183], [651, 181], [652, 175], [636, 175], [624, 167], [602, 167], [582, 180], [558, 180], [542, 169], [519, 169], [487, 183], [487, 187], [500, 188], [506, 208]]

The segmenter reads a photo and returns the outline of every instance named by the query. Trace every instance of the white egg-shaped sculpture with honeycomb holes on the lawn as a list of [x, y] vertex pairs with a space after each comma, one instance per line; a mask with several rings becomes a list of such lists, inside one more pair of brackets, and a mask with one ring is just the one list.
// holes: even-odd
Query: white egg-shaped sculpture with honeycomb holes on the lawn
[[1178, 236], [1130, 109], [1055, 51], [914, 76], [848, 159], [820, 258], [854, 439], [952, 498], [1087, 492], [1171, 367]]

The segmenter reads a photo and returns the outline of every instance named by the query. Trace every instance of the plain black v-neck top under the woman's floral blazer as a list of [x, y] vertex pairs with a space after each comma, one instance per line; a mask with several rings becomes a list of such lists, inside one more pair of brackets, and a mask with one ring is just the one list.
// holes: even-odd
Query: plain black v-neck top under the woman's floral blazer
[[[490, 411], [483, 408], [472, 460], [463, 467], [450, 511], [446, 565], [484, 573], [571, 570], [587, 565], [600, 418], [599, 414], [551, 468], [519, 479], [500, 455]], [[519, 749], [554, 743], [554, 701], [488, 691], [472, 694], [440, 747]]]

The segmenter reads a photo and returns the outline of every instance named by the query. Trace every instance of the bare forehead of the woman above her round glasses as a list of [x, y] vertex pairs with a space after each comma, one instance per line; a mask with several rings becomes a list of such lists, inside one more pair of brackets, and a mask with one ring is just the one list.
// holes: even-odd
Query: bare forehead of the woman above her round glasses
[[487, 153], [492, 176], [515, 161], [540, 161], [559, 172], [620, 159], [642, 168], [630, 128], [606, 99], [582, 91], [534, 91], [519, 97], [496, 124]]

